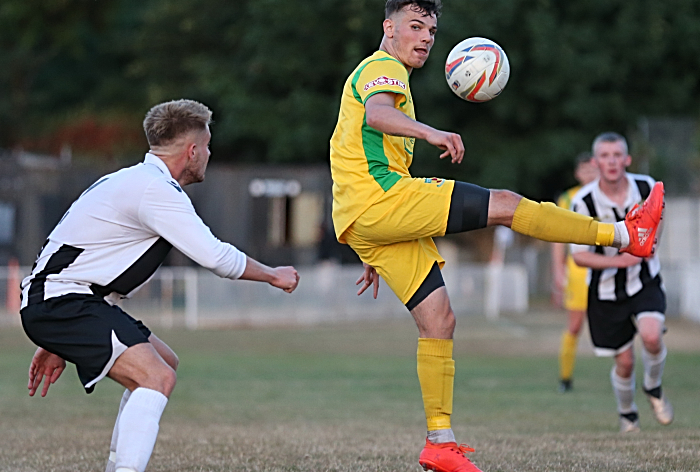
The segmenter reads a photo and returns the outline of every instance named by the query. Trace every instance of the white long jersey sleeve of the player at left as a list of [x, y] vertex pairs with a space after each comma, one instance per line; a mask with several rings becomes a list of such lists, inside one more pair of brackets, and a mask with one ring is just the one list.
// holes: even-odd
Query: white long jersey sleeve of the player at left
[[156, 179], [139, 207], [144, 226], [219, 277], [237, 279], [246, 267], [246, 255], [217, 239], [197, 215], [181, 188]]

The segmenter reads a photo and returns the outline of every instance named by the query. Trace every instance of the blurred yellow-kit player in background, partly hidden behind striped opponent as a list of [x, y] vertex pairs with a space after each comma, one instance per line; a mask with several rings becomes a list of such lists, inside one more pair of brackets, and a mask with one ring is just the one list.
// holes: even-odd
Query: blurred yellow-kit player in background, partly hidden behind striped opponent
[[[571, 201], [581, 186], [598, 178], [598, 168], [589, 152], [579, 154], [576, 158], [574, 176], [579, 185], [563, 192], [557, 200], [559, 208], [571, 209]], [[568, 392], [573, 387], [574, 365], [576, 363], [576, 348], [578, 336], [581, 333], [583, 319], [586, 317], [588, 306], [588, 269], [576, 265], [571, 254], [567, 254], [565, 244], [552, 245], [552, 275], [554, 286], [563, 292], [563, 305], [567, 311], [569, 325], [561, 336], [559, 347], [559, 391]]]

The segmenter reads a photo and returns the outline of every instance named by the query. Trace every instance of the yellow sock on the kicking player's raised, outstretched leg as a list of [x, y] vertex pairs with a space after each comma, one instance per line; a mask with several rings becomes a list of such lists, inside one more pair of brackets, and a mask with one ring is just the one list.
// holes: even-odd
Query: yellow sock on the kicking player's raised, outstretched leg
[[554, 203], [520, 200], [513, 215], [513, 231], [553, 243], [612, 246], [615, 225], [559, 208]]

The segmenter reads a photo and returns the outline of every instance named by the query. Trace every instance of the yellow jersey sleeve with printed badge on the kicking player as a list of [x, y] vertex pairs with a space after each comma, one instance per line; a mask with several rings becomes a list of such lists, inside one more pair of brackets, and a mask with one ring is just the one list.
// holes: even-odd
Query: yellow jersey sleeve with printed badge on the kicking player
[[362, 104], [375, 93], [391, 92], [408, 96], [408, 72], [394, 59], [374, 60], [359, 72], [353, 93]]

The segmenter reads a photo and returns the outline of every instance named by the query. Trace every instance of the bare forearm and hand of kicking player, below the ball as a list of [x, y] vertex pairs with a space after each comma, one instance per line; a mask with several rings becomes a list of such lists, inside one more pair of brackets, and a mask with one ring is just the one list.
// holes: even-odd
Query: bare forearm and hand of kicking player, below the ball
[[452, 163], [462, 162], [464, 144], [459, 134], [440, 131], [411, 119], [395, 108], [395, 99], [396, 94], [390, 92], [377, 93], [369, 97], [365, 103], [367, 124], [391, 136], [423, 139], [445, 151], [440, 154], [440, 159], [451, 156]]

